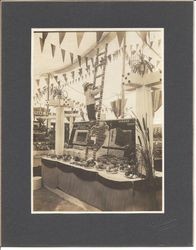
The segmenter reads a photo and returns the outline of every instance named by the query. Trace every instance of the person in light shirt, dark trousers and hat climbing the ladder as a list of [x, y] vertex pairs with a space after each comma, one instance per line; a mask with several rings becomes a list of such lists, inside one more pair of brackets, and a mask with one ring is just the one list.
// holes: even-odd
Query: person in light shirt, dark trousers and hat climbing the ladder
[[96, 111], [95, 111], [95, 96], [98, 95], [101, 91], [101, 87], [93, 88], [93, 83], [85, 83], [84, 87], [84, 95], [86, 97], [86, 108], [89, 121], [96, 120]]

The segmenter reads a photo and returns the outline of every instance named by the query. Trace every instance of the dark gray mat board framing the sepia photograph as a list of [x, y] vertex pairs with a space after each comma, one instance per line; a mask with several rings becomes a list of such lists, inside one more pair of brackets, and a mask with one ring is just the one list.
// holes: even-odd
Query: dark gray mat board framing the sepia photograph
[[[31, 29], [164, 28], [164, 214], [31, 214]], [[2, 4], [2, 246], [192, 246], [192, 2]]]

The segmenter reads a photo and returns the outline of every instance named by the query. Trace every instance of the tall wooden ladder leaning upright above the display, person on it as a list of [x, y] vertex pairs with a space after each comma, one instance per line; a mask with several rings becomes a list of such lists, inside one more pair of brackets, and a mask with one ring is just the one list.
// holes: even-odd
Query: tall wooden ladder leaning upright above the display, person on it
[[[97, 82], [101, 81], [100, 87], [100, 95], [98, 98], [96, 98], [96, 105], [97, 105], [97, 119], [95, 121], [95, 124], [89, 124], [89, 131], [88, 131], [88, 138], [87, 138], [87, 146], [86, 146], [86, 152], [85, 152], [85, 159], [87, 160], [88, 158], [88, 151], [90, 148], [90, 130], [92, 126], [95, 126], [95, 138], [97, 139], [98, 132], [99, 132], [99, 122], [101, 118], [101, 109], [102, 109], [102, 102], [103, 102], [103, 89], [104, 89], [104, 81], [105, 81], [105, 70], [106, 70], [106, 63], [107, 63], [107, 48], [108, 44], [106, 43], [105, 45], [105, 50], [103, 52], [99, 52], [99, 48], [97, 49], [96, 53], [96, 60], [95, 60], [95, 65], [94, 65], [94, 81], [93, 85], [94, 88], [97, 86]], [[101, 57], [102, 56], [102, 57]], [[101, 58], [100, 58], [101, 57]], [[100, 73], [100, 71], [102, 71]], [[98, 74], [99, 72], [99, 74]], [[96, 159], [96, 152], [97, 149], [96, 147], [93, 147], [93, 160]]]

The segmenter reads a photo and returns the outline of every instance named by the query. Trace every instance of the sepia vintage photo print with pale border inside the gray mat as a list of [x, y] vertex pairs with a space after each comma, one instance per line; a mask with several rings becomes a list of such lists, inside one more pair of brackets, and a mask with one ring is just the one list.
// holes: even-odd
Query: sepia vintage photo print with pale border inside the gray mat
[[32, 29], [31, 212], [164, 213], [164, 30]]

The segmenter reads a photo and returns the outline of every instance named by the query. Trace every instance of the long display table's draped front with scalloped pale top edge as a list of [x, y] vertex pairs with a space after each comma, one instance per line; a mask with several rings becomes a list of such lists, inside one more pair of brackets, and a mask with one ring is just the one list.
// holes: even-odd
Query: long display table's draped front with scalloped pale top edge
[[42, 157], [42, 178], [44, 186], [59, 188], [103, 211], [158, 211], [161, 207], [156, 193], [145, 190], [144, 180], [129, 179], [122, 172], [110, 174]]

